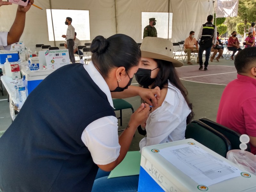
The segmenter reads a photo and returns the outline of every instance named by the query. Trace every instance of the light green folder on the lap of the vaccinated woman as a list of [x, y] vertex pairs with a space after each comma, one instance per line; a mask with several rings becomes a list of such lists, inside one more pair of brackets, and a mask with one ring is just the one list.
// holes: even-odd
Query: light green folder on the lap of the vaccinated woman
[[124, 160], [110, 172], [110, 174], [108, 175], [108, 179], [129, 175], [139, 175], [140, 158], [141, 154], [139, 151], [127, 152], [126, 156], [124, 157]]

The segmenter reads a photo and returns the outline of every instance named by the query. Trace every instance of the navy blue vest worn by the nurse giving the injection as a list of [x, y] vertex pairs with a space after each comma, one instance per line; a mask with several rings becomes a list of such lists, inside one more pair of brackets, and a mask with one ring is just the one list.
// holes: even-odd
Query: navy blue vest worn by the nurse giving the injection
[[83, 65], [57, 69], [29, 94], [0, 138], [0, 188], [91, 191], [98, 166], [81, 135], [104, 116], [115, 116], [114, 110]]

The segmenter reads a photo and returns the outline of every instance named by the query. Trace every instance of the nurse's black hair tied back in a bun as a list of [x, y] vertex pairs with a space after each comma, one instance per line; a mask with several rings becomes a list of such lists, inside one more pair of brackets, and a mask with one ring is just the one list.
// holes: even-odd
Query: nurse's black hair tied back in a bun
[[115, 67], [124, 67], [129, 71], [139, 64], [141, 57], [139, 45], [124, 34], [116, 34], [107, 39], [96, 36], [92, 40], [90, 51], [93, 64], [104, 78]]

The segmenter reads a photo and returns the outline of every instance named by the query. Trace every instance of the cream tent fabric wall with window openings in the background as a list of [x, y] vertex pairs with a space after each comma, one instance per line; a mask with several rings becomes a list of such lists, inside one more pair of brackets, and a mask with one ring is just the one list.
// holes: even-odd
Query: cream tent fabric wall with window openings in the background
[[[49, 41], [46, 16], [50, 1], [40, 0], [35, 4], [43, 10], [31, 7], [20, 38], [32, 51], [35, 51], [36, 44], [54, 46], [54, 42]], [[145, 27], [141, 26], [141, 12], [168, 12], [169, 0], [52, 0], [51, 4], [52, 9], [89, 10], [91, 41], [95, 36], [109, 37], [117, 31], [131, 36], [139, 43], [142, 42], [141, 28]], [[8, 31], [11, 28], [16, 9], [17, 5], [0, 7], [0, 31]], [[185, 40], [191, 30], [194, 30], [197, 36], [201, 25], [206, 22], [207, 15], [212, 14], [212, 1], [170, 0], [170, 12], [173, 13], [172, 42]], [[60, 21], [63, 22], [63, 34], [66, 33], [66, 17], [68, 15], [63, 15], [63, 20]], [[56, 46], [63, 42], [56, 41]], [[82, 44], [85, 42], [81, 41]]]

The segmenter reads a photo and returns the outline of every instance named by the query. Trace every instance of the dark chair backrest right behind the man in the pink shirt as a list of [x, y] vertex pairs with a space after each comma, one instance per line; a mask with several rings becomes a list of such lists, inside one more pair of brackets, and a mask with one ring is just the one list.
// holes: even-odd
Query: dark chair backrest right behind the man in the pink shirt
[[[235, 132], [234, 130], [229, 129], [228, 127], [218, 124], [218, 123], [212, 121], [211, 119], [207, 119], [205, 117], [199, 119], [199, 121], [203, 122], [204, 124], [207, 124], [208, 126], [212, 127], [216, 131], [225, 135], [228, 138], [228, 140], [230, 141], [232, 149], [240, 149], [240, 147], [239, 147], [239, 145], [241, 143], [239, 140], [239, 138], [241, 136], [240, 133]], [[249, 143], [247, 143], [246, 151], [251, 152], [251, 147], [250, 147]]]

